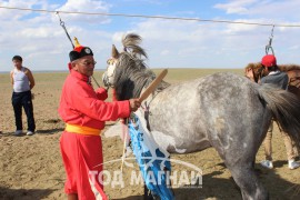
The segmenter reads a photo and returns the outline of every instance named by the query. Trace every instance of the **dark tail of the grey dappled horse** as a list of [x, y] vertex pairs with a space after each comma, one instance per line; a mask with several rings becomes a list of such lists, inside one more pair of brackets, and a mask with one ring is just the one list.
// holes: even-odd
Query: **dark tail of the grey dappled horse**
[[300, 101], [293, 93], [262, 84], [258, 89], [260, 98], [272, 112], [274, 120], [300, 147]]

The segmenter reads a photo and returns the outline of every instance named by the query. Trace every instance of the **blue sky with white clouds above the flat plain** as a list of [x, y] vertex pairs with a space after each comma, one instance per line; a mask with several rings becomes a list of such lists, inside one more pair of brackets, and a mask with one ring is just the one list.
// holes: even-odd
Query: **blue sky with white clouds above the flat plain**
[[[49, 11], [162, 16], [288, 24], [273, 29], [278, 63], [300, 63], [300, 0], [0, 0], [0, 7]], [[242, 69], [266, 54], [272, 26], [211, 21], [60, 13], [71, 38], [90, 47], [103, 70], [111, 46], [134, 32], [151, 68]], [[32, 71], [67, 70], [72, 50], [54, 12], [0, 8], [0, 71], [10, 71], [20, 54]]]

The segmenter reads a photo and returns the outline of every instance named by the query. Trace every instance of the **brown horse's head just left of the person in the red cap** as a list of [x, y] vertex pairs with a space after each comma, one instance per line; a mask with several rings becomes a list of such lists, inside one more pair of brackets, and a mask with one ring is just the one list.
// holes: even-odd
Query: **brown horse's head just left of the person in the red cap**
[[258, 82], [262, 77], [264, 77], [264, 67], [260, 62], [249, 63], [244, 68], [244, 76], [251, 81]]

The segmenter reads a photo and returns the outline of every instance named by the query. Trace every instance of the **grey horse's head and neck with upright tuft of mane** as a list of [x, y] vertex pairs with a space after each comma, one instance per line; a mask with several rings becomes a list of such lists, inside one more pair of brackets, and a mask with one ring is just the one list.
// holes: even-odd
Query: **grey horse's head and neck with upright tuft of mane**
[[129, 33], [122, 38], [123, 51], [119, 52], [112, 46], [111, 58], [108, 60], [107, 71], [102, 76], [104, 86], [116, 89], [117, 98], [124, 100], [139, 96], [147, 81], [144, 50], [139, 47], [141, 37]]

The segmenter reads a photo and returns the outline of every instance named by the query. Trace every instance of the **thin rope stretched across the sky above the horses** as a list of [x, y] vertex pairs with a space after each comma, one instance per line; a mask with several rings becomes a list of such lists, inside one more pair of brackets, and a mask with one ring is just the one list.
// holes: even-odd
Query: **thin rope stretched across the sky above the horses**
[[126, 14], [126, 13], [103, 13], [103, 12], [79, 12], [79, 11], [62, 11], [62, 10], [44, 10], [44, 9], [29, 9], [18, 7], [3, 7], [2, 9], [10, 10], [23, 10], [33, 12], [48, 12], [48, 13], [67, 13], [67, 14], [88, 14], [88, 16], [111, 16], [111, 17], [127, 17], [127, 18], [150, 18], [150, 19], [167, 19], [167, 20], [182, 20], [182, 21], [199, 21], [199, 22], [214, 22], [214, 23], [233, 23], [233, 24], [250, 24], [250, 26], [274, 26], [274, 27], [293, 27], [300, 28], [300, 24], [283, 24], [283, 23], [259, 23], [259, 22], [243, 22], [243, 21], [230, 21], [230, 20], [211, 20], [199, 18], [179, 18], [179, 17], [164, 17], [164, 16], [143, 16], [143, 14]]

